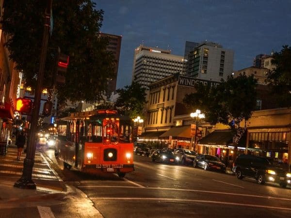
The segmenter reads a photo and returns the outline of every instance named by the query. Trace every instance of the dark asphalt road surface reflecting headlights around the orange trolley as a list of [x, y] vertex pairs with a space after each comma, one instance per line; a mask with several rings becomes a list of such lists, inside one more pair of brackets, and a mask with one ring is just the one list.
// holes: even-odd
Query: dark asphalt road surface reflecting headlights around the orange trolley
[[94, 202], [105, 218], [287, 218], [291, 217], [291, 187], [259, 185], [230, 174], [152, 162], [134, 156], [135, 171], [88, 175], [66, 170], [53, 150], [45, 152], [55, 170]]

